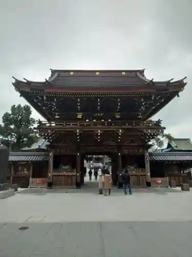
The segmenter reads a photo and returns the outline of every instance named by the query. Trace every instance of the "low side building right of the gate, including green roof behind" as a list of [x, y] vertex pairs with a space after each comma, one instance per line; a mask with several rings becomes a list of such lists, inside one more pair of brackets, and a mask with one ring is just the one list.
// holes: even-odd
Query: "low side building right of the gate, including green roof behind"
[[177, 186], [191, 180], [192, 142], [188, 138], [168, 141], [166, 149], [150, 154], [151, 177], [168, 177]]

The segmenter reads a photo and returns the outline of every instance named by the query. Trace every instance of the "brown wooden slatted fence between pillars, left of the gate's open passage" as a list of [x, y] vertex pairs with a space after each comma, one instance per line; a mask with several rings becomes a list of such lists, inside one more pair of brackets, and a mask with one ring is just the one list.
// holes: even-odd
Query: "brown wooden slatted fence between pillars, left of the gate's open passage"
[[55, 172], [53, 171], [53, 187], [74, 187], [76, 184], [76, 170], [71, 172]]

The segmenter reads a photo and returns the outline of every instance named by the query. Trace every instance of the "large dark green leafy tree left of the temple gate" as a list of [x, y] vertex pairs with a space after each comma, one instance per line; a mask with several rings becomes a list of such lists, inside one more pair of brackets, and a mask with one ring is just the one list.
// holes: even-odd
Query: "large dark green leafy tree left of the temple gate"
[[12, 150], [20, 150], [30, 147], [37, 141], [37, 131], [34, 130], [35, 119], [31, 118], [29, 105], [12, 105], [11, 112], [6, 112], [0, 124], [1, 143]]

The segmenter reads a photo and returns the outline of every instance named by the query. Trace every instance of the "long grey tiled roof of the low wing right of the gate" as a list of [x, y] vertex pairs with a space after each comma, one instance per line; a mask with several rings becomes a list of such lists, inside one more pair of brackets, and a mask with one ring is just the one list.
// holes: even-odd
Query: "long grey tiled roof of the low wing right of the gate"
[[192, 161], [192, 152], [158, 152], [158, 153], [150, 153], [150, 160], [152, 161]]

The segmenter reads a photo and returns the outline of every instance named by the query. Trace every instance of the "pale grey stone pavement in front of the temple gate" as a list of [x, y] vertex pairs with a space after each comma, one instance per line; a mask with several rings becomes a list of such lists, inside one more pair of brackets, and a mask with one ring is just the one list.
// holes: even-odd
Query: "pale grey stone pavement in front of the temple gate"
[[29, 189], [1, 200], [0, 257], [192, 256], [191, 192], [112, 192]]

